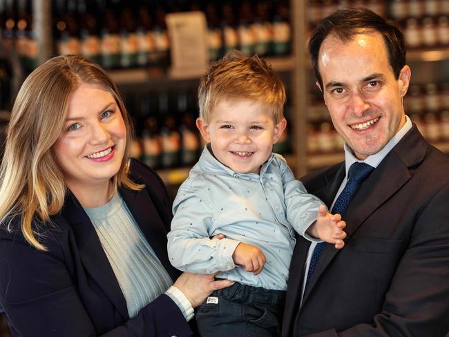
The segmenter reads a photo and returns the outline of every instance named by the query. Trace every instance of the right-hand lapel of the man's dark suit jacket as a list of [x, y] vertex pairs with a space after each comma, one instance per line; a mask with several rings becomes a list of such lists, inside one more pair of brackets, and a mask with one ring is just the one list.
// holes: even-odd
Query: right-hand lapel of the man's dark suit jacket
[[[413, 148], [414, 151], [410, 151], [410, 148]], [[346, 222], [346, 244], [348, 240], [352, 238], [352, 235], [354, 235], [359, 226], [376, 209], [378, 209], [379, 206], [410, 180], [411, 175], [409, 167], [419, 164], [419, 162], [423, 160], [427, 148], [428, 143], [417, 131], [416, 126], [413, 126], [403, 139], [401, 139], [401, 142], [388, 153], [381, 164], [379, 164], [367, 180], [363, 182], [361, 188], [356, 195], [354, 195], [350, 205], [343, 214], [343, 220]], [[341, 180], [337, 181], [341, 182]], [[334, 189], [335, 186], [331, 184], [329, 186], [329, 191], [334, 191]], [[332, 195], [335, 195], [335, 193]], [[316, 265], [312, 279], [307, 287], [307, 291], [304, 294], [303, 301], [307, 299], [316, 281], [339, 251], [340, 249], [335, 249], [332, 244], [326, 245], [321, 258], [318, 260], [318, 264]]]

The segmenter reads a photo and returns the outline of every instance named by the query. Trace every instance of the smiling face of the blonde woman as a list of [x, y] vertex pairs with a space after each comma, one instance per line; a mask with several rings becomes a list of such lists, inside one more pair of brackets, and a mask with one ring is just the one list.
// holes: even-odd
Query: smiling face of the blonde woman
[[53, 153], [72, 191], [107, 186], [120, 169], [126, 127], [111, 93], [81, 84], [69, 97], [64, 128]]

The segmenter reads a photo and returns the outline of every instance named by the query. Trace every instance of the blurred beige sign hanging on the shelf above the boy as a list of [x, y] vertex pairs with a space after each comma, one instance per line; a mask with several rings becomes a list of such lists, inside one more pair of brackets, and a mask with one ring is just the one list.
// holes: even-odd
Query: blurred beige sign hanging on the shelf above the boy
[[165, 21], [171, 46], [171, 77], [200, 77], [209, 65], [204, 13], [170, 13]]

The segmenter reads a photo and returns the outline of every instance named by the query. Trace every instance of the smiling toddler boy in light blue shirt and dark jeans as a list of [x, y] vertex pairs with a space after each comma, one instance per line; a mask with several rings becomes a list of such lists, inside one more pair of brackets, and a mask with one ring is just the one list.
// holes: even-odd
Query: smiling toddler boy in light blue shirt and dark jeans
[[345, 222], [271, 152], [287, 122], [266, 61], [232, 52], [202, 77], [198, 101], [207, 146], [173, 203], [170, 262], [236, 282], [196, 311], [202, 337], [278, 336], [295, 231], [341, 248]]

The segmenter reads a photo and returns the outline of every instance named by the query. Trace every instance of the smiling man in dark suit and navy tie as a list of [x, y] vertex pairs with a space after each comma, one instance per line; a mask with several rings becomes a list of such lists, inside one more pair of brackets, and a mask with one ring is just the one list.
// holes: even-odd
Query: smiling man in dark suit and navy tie
[[[320, 256], [321, 244], [297, 238], [283, 336], [444, 336], [449, 158], [405, 115], [403, 35], [370, 10], [347, 8], [318, 23], [309, 54], [345, 162], [303, 182], [342, 213], [347, 239]], [[353, 170], [356, 162], [364, 164]]]

